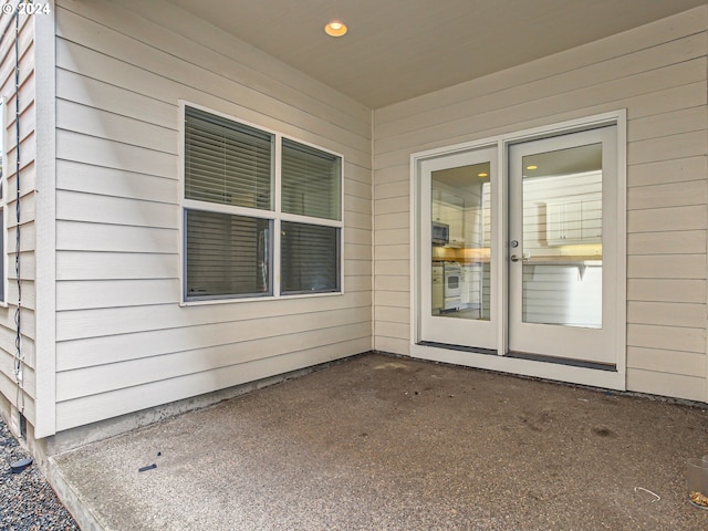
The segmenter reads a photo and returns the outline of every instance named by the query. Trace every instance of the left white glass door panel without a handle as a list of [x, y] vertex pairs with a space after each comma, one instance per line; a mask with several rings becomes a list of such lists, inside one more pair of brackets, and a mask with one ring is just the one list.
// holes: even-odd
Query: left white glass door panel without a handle
[[424, 160], [419, 326], [424, 342], [497, 348], [497, 147]]

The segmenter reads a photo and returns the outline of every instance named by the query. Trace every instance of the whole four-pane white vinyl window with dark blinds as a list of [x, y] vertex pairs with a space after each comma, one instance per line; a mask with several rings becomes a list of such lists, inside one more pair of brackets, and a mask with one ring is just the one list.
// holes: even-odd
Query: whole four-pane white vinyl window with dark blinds
[[185, 302], [341, 292], [342, 157], [184, 112]]

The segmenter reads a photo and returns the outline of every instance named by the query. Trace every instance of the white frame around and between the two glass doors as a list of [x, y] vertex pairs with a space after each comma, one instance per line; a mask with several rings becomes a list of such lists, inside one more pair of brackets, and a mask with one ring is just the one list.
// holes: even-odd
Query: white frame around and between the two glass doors
[[[496, 188], [493, 208], [496, 208], [498, 212], [503, 212], [506, 211], [504, 201], [509, 195], [508, 150], [511, 144], [580, 132], [603, 125], [616, 125], [617, 127], [617, 219], [616, 223], [612, 227], [617, 238], [617, 263], [615, 271], [617, 278], [615, 371], [525, 360], [506, 355], [508, 353], [508, 317], [506, 304], [498, 304], [499, 308], [496, 310], [499, 322], [497, 355], [476, 352], [475, 348], [442, 348], [439, 346], [420, 345], [419, 305], [421, 301], [419, 293], [420, 268], [418, 257], [420, 256], [419, 246], [429, 244], [429, 241], [426, 242], [421, 240], [421, 217], [418, 216], [418, 212], [421, 211], [418, 179], [421, 163], [440, 156], [497, 145], [499, 157], [497, 167], [499, 170], [497, 173], [497, 186], [494, 187], [492, 184], [492, 189]], [[620, 391], [626, 389], [626, 111], [620, 110], [585, 118], [524, 129], [492, 138], [415, 153], [410, 156], [410, 355], [413, 357], [596, 387]], [[509, 233], [507, 217], [499, 216], [498, 223], [497, 238], [493, 243], [497, 246], [497, 249], [500, 250], [500, 263], [503, 266], [499, 266], [500, 274], [496, 275], [496, 282], [499, 300], [506, 301], [509, 281], [508, 246], [506, 246]]]

